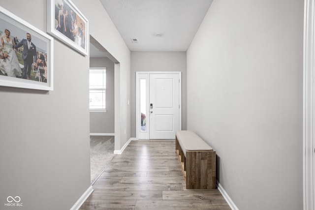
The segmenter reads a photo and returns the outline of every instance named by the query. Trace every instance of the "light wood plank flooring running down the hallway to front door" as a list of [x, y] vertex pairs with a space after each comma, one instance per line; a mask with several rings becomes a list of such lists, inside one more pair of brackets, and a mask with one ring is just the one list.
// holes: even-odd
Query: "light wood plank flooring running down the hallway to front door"
[[186, 189], [175, 141], [131, 141], [80, 210], [230, 210], [218, 189]]

